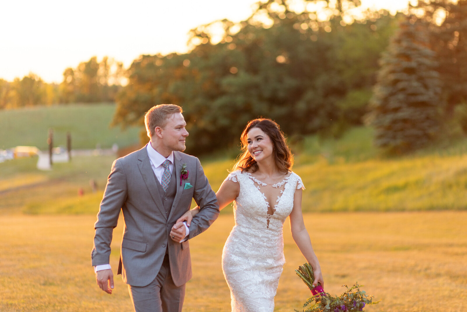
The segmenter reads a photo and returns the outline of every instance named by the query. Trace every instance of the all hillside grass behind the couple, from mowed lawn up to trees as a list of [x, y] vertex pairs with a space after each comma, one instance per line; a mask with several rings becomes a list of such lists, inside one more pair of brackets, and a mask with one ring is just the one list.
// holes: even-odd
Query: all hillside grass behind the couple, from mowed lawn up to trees
[[[113, 110], [111, 104], [75, 104], [0, 111], [0, 146], [45, 149], [49, 127], [55, 129], [56, 145], [64, 144], [66, 131], [72, 133], [74, 148], [136, 143], [138, 129], [109, 129]], [[399, 157], [382, 155], [372, 138], [373, 131], [367, 127], [350, 129], [338, 139], [290, 138], [293, 170], [306, 187], [304, 211], [467, 210], [466, 138], [444, 139]], [[226, 178], [237, 153], [233, 148], [196, 155], [214, 190]], [[0, 213], [95, 214], [114, 159], [77, 156], [45, 172], [36, 169], [36, 158], [0, 163]], [[97, 193], [92, 193], [90, 180], [97, 182]], [[78, 189], [83, 189], [84, 196], [78, 196]]]

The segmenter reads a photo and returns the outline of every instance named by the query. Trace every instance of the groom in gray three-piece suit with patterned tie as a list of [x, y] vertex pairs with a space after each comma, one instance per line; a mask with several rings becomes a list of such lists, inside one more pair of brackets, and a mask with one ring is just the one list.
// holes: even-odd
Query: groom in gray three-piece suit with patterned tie
[[[117, 274], [128, 284], [134, 310], [181, 312], [185, 283], [191, 278], [188, 239], [212, 224], [219, 205], [198, 158], [181, 152], [188, 136], [182, 108], [154, 106], [144, 122], [150, 142], [113, 162], [94, 225], [92, 265], [99, 287], [111, 294], [110, 243], [121, 210]], [[200, 211], [190, 228], [172, 228], [190, 209], [192, 198]]]

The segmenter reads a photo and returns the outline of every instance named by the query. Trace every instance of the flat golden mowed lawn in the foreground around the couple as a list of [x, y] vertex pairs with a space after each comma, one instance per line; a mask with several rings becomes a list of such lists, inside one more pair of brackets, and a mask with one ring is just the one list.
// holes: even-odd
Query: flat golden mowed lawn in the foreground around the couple
[[[366, 311], [467, 311], [467, 211], [307, 213], [305, 223], [325, 276], [325, 290], [364, 284], [382, 299]], [[90, 262], [91, 215], [4, 215], [0, 218], [0, 311], [132, 311], [115, 276], [112, 295], [99, 290]], [[120, 221], [122, 221], [120, 219]], [[233, 215], [223, 211], [190, 242], [193, 278], [184, 311], [230, 311], [221, 270]], [[114, 231], [118, 264], [122, 224]], [[294, 269], [304, 262], [284, 226], [286, 264], [275, 311], [300, 309], [310, 296]]]

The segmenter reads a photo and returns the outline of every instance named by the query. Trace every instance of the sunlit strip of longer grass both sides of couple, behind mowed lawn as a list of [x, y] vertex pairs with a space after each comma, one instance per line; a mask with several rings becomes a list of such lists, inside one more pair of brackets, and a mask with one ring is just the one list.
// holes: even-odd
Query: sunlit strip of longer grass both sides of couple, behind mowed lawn
[[[52, 171], [37, 170], [31, 159], [2, 163], [0, 213], [95, 213], [113, 160], [113, 156], [80, 156], [71, 163], [54, 164]], [[217, 191], [234, 160], [201, 158], [201, 162]], [[296, 162], [293, 170], [306, 187], [304, 211], [467, 209], [467, 153], [356, 162], [322, 157], [312, 163]], [[91, 194], [90, 180], [97, 182], [98, 194]], [[78, 196], [78, 189], [85, 196]]]

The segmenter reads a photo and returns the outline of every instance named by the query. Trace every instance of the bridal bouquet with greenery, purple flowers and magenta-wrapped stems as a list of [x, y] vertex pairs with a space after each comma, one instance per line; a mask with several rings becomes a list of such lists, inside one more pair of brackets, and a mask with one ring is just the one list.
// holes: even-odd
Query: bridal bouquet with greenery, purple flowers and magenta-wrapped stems
[[[306, 300], [303, 307], [305, 308], [308, 305], [312, 305], [302, 312], [363, 311], [365, 305], [375, 305], [381, 301], [373, 302], [373, 296], [368, 296], [364, 290], [360, 290], [360, 287], [363, 287], [363, 285], [359, 285], [358, 283], [355, 283], [354, 286], [350, 288], [347, 287], [347, 285], [344, 285], [347, 290], [339, 297], [333, 297], [326, 293], [320, 284], [313, 287], [315, 277], [313, 275], [313, 269], [309, 263], [304, 263], [299, 266], [295, 272], [308, 286], [311, 290], [311, 294], [313, 295], [313, 297]], [[295, 311], [300, 312], [298, 310]]]

